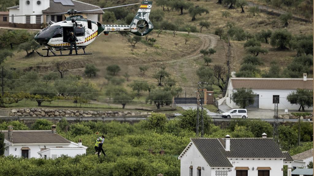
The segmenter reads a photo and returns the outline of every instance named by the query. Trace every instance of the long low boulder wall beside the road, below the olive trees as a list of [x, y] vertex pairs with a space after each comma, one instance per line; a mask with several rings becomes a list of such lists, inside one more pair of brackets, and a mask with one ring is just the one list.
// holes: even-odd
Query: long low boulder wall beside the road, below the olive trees
[[109, 117], [109, 116], [135, 116], [146, 115], [147, 112], [130, 111], [86, 111], [86, 110], [62, 110], [62, 109], [44, 109], [44, 108], [24, 108], [12, 109], [9, 116], [32, 116], [32, 117]]

